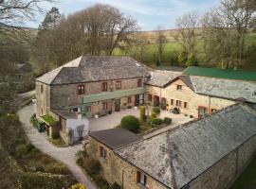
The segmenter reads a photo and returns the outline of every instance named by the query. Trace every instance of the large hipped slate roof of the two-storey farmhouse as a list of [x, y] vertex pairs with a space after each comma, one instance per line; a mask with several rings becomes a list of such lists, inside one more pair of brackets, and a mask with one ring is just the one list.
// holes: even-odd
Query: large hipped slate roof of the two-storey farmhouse
[[150, 77], [149, 69], [129, 57], [82, 56], [36, 80], [58, 85], [132, 77]]

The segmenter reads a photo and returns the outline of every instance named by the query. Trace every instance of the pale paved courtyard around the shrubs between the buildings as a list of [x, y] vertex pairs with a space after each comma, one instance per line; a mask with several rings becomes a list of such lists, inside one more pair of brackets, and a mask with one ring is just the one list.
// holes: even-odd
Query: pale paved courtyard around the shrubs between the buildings
[[[93, 118], [90, 120], [89, 130], [90, 131], [98, 131], [98, 130], [102, 130], [102, 129], [116, 128], [117, 126], [119, 126], [121, 118], [126, 115], [135, 115], [135, 116], [139, 117], [139, 110], [138, 109], [137, 110], [127, 109], [127, 110], [123, 110], [120, 112], [113, 112], [110, 115], [106, 115], [106, 116], [100, 117], [98, 119]], [[154, 133], [157, 133], [159, 131], [160, 132], [164, 131], [165, 129], [172, 129], [180, 124], [184, 124], [184, 123], [187, 123], [192, 120], [192, 118], [190, 118], [189, 116], [185, 116], [184, 114], [174, 114], [172, 112], [162, 111], [162, 110], [161, 110], [159, 117], [162, 119], [164, 117], [171, 117], [173, 119], [173, 123], [171, 126], [155, 130]], [[150, 136], [154, 133], [147, 134], [147, 136]]]

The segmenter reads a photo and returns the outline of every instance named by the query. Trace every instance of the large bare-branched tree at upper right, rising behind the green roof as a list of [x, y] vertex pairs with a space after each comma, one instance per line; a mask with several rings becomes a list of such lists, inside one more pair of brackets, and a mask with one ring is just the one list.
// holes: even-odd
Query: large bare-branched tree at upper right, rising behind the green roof
[[222, 0], [202, 20], [205, 51], [223, 68], [237, 68], [244, 59], [245, 38], [255, 20], [254, 0]]

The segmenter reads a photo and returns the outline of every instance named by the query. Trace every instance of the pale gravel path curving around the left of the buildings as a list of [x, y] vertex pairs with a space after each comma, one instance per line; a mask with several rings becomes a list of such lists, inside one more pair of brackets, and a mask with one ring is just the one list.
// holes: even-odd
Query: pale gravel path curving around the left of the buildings
[[53, 146], [46, 140], [46, 136], [43, 133], [39, 133], [30, 124], [29, 119], [34, 112], [34, 104], [18, 111], [20, 121], [22, 122], [22, 125], [31, 143], [49, 156], [65, 163], [76, 177], [76, 179], [84, 183], [86, 189], [97, 189], [97, 187], [90, 181], [90, 179], [84, 175], [82, 169], [76, 163], [76, 153], [82, 149], [82, 145], [68, 147]]

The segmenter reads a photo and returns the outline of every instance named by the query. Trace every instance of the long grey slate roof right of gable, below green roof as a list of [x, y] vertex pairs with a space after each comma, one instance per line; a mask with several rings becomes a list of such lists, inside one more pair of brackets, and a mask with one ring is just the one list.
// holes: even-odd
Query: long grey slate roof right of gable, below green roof
[[256, 103], [256, 82], [215, 77], [191, 76], [195, 93], [229, 99], [243, 97], [247, 102]]

